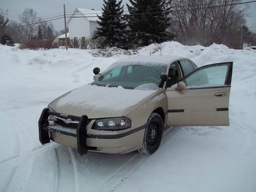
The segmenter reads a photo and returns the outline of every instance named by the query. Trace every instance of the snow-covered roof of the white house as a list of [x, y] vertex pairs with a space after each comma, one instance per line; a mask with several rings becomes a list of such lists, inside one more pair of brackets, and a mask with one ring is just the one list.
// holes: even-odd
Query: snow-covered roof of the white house
[[[77, 12], [78, 11], [78, 12]], [[102, 13], [101, 11], [95, 11], [92, 9], [83, 9], [83, 8], [76, 8], [72, 14], [72, 17], [87, 17], [88, 20], [90, 20], [90, 22], [97, 22], [98, 19], [98, 15], [101, 16]], [[70, 22], [70, 19], [72, 18], [70, 17], [68, 20], [68, 23]]]

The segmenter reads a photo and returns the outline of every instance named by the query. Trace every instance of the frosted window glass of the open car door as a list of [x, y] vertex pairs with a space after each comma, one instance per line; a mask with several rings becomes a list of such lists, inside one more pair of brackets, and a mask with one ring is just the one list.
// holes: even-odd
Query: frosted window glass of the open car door
[[183, 81], [188, 89], [223, 87], [227, 78], [227, 65], [210, 66], [196, 71]]

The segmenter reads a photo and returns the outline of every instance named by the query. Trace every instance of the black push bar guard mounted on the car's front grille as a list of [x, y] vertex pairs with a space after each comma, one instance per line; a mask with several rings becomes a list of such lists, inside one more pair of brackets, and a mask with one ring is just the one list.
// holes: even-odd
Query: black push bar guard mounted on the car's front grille
[[40, 119], [38, 121], [38, 131], [39, 131], [39, 141], [41, 142], [42, 145], [49, 143], [50, 142], [50, 137], [49, 137], [49, 131], [51, 128], [49, 127], [49, 115], [56, 115], [56, 116], [62, 116], [66, 118], [75, 118], [79, 120], [78, 127], [76, 129], [76, 140], [77, 140], [77, 151], [79, 155], [87, 154], [87, 131], [86, 131], [86, 125], [88, 121], [87, 115], [82, 115], [81, 117], [73, 116], [73, 115], [66, 115], [66, 114], [61, 114], [61, 113], [56, 113], [50, 111], [48, 108], [45, 108], [42, 110]]

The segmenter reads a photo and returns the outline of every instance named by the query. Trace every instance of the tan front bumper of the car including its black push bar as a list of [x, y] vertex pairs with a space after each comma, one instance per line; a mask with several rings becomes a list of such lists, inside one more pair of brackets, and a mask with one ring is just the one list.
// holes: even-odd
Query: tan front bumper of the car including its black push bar
[[[49, 123], [51, 121], [51, 119], [48, 119], [50, 115], [75, 119], [79, 121], [79, 125], [74, 129], [59, 124], [56, 125], [56, 123]], [[141, 148], [145, 125], [121, 131], [94, 130], [92, 132], [90, 129], [92, 124], [92, 119], [88, 119], [86, 115], [81, 117], [66, 115], [52, 112], [46, 108], [42, 111], [38, 122], [39, 140], [41, 144], [53, 140], [59, 144], [77, 148], [79, 155], [86, 154], [88, 151], [108, 154], [129, 153]]]

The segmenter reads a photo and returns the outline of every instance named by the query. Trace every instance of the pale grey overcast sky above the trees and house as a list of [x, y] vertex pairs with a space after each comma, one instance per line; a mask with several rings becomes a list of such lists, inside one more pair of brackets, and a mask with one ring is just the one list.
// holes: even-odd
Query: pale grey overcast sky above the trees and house
[[[127, 2], [129, 0], [123, 0], [123, 4]], [[73, 12], [75, 8], [101, 10], [103, 0], [0, 0], [0, 8], [8, 9], [8, 18], [16, 21], [18, 21], [18, 14], [22, 13], [25, 8], [33, 8], [38, 16], [44, 17], [63, 12], [63, 4], [66, 5], [66, 12]], [[251, 14], [246, 18], [247, 26], [256, 32], [256, 2], [247, 5]], [[63, 19], [54, 20], [52, 23], [55, 30], [64, 29]]]

